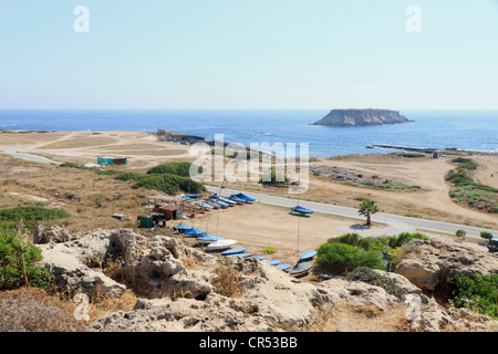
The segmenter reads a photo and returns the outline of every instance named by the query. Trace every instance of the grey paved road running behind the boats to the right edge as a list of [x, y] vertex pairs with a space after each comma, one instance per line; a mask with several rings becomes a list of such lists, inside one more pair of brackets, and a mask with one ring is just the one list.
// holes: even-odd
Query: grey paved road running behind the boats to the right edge
[[[226, 188], [224, 188], [220, 192], [219, 188], [209, 187], [209, 186], [207, 186], [207, 188], [211, 192], [218, 192], [218, 194], [225, 195], [225, 196], [240, 192], [240, 190], [226, 189]], [[289, 207], [289, 208], [295, 207], [298, 205], [297, 198], [276, 197], [276, 196], [269, 196], [269, 195], [262, 195], [262, 194], [256, 194], [256, 192], [246, 192], [246, 191], [241, 191], [241, 192], [243, 192], [247, 196], [250, 196], [251, 198], [257, 199], [259, 202], [263, 202], [263, 204], [268, 204], [268, 205], [273, 205], [273, 206], [279, 206], [279, 207]], [[359, 219], [359, 220], [363, 220], [363, 221], [365, 220], [365, 217], [360, 216], [357, 212], [357, 209], [355, 209], [355, 208], [341, 207], [341, 206], [335, 206], [335, 205], [307, 201], [307, 200], [300, 200], [299, 205], [301, 207], [314, 210], [315, 212], [331, 214], [331, 215], [335, 215], [335, 216]], [[449, 223], [449, 222], [435, 221], [435, 220], [421, 219], [421, 218], [408, 218], [408, 217], [402, 217], [402, 216], [384, 214], [384, 212], [377, 212], [377, 214], [373, 215], [372, 221], [386, 223], [391, 227], [398, 227], [400, 229], [411, 229], [414, 231], [426, 230], [426, 231], [433, 231], [433, 232], [444, 232], [444, 233], [455, 235], [455, 232], [457, 230], [465, 230], [467, 232], [467, 237], [475, 237], [475, 238], [479, 238], [479, 239], [480, 239], [481, 231], [494, 232], [494, 230], [476, 228], [476, 227], [466, 226], [466, 225]], [[498, 237], [498, 233], [495, 231], [494, 236]], [[483, 240], [483, 239], [480, 239], [480, 240]]]

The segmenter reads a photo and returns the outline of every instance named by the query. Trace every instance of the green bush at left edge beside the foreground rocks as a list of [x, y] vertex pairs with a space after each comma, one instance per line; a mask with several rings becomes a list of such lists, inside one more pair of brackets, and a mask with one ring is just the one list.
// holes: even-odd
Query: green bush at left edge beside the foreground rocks
[[35, 262], [41, 250], [13, 233], [0, 233], [0, 290], [32, 285], [49, 289], [51, 274]]

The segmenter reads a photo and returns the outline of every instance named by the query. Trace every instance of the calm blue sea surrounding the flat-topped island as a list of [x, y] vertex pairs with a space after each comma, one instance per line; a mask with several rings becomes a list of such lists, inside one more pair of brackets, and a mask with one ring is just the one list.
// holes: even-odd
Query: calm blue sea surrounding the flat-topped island
[[[498, 154], [498, 111], [400, 111], [413, 122], [334, 127], [312, 125], [330, 110], [0, 110], [0, 129], [156, 132], [166, 129], [224, 142], [282, 144], [295, 155], [391, 154], [393, 145]], [[0, 135], [1, 139], [1, 135]], [[289, 145], [288, 145], [289, 144]], [[373, 148], [372, 148], [373, 147]], [[302, 148], [302, 149], [301, 149]]]

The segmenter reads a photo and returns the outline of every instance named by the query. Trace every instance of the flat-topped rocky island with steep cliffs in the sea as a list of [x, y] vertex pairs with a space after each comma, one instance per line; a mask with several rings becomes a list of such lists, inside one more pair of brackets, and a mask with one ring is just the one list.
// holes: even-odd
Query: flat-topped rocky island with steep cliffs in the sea
[[400, 112], [388, 110], [332, 110], [325, 117], [312, 125], [365, 126], [409, 123]]

